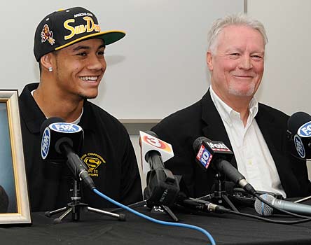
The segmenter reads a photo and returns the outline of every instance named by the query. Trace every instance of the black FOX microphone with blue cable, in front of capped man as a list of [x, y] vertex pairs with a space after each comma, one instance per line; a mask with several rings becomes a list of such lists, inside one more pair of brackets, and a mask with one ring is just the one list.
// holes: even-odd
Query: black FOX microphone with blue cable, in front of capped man
[[41, 158], [49, 162], [67, 165], [74, 178], [82, 180], [91, 190], [95, 183], [88, 174], [88, 167], [76, 154], [81, 148], [83, 130], [79, 125], [65, 123], [62, 118], [48, 118], [41, 125]]

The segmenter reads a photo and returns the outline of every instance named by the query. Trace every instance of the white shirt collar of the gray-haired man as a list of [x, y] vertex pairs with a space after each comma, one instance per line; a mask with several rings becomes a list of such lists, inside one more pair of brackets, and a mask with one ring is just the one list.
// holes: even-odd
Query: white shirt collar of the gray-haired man
[[[221, 98], [219, 98], [219, 96], [212, 89], [212, 85], [209, 86], [209, 91], [211, 94], [212, 101], [214, 102], [214, 105], [216, 106], [216, 109], [219, 112], [219, 115], [226, 123], [228, 123], [228, 125], [232, 125], [233, 117], [240, 118], [240, 113], [234, 111], [230, 106], [228, 106], [228, 104], [223, 102]], [[254, 120], [257, 113], [258, 113], [258, 101], [255, 97], [253, 97], [251, 99], [251, 102], [249, 102], [249, 118], [247, 121], [251, 123], [251, 121]]]

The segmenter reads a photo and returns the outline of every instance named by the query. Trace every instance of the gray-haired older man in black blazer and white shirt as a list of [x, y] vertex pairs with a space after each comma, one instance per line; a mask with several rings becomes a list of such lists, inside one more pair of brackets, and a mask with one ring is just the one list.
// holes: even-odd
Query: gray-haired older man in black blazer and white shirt
[[180, 174], [191, 197], [211, 193], [215, 169], [195, 162], [198, 137], [223, 141], [235, 154], [231, 164], [256, 190], [299, 197], [310, 194], [305, 161], [291, 157], [289, 116], [254, 98], [263, 76], [265, 44], [261, 22], [247, 15], [216, 20], [209, 31], [207, 66], [211, 86], [202, 99], [165, 118], [153, 131], [172, 144], [166, 166]]

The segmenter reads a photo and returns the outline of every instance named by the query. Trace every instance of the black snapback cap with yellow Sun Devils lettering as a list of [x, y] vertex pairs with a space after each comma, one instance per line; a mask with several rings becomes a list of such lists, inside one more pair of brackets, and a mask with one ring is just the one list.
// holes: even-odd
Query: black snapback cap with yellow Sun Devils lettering
[[67, 8], [50, 13], [36, 27], [34, 56], [39, 62], [48, 52], [85, 39], [101, 38], [105, 45], [109, 45], [124, 36], [123, 31], [101, 31], [95, 15], [85, 8]]

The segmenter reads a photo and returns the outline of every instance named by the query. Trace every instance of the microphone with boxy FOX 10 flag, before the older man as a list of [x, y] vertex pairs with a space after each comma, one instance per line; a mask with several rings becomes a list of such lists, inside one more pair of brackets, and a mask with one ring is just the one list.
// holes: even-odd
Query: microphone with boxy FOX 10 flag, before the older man
[[196, 162], [205, 171], [209, 165], [212, 165], [214, 169], [226, 175], [230, 181], [233, 181], [251, 195], [256, 193], [256, 190], [246, 181], [245, 177], [230, 164], [229, 161], [233, 158], [233, 152], [223, 142], [198, 137], [193, 142], [193, 149], [198, 152], [195, 158]]

